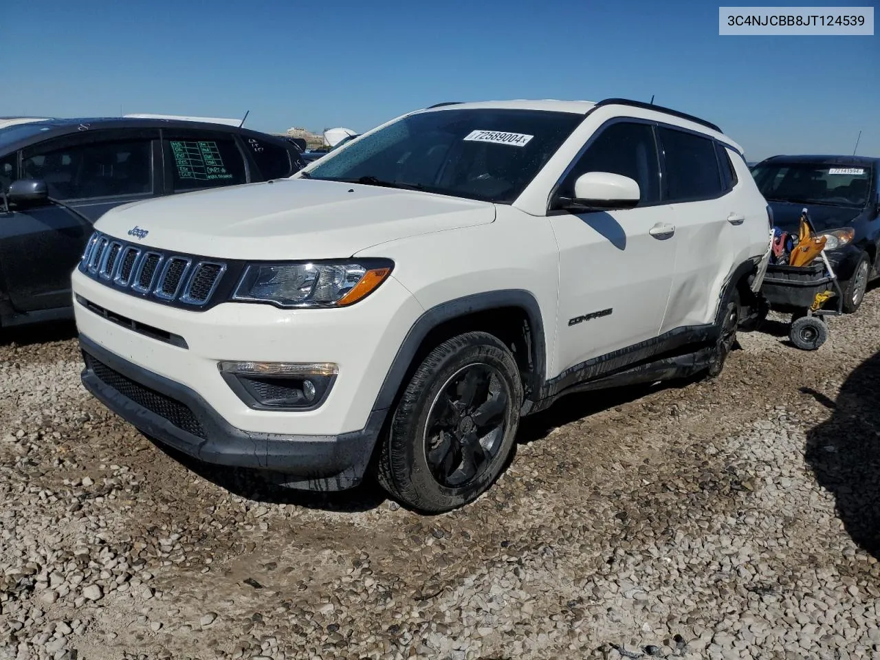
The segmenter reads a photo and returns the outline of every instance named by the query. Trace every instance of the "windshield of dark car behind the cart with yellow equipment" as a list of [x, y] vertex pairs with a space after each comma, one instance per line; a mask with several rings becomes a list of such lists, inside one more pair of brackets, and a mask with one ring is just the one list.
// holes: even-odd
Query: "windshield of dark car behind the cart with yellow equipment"
[[873, 172], [868, 166], [774, 163], [752, 170], [768, 202], [863, 207]]

